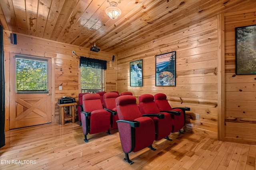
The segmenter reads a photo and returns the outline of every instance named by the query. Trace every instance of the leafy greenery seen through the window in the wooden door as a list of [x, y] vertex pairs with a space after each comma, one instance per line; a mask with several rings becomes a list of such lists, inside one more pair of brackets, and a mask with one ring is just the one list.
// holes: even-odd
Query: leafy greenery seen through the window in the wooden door
[[16, 57], [16, 89], [18, 92], [47, 92], [47, 60]]

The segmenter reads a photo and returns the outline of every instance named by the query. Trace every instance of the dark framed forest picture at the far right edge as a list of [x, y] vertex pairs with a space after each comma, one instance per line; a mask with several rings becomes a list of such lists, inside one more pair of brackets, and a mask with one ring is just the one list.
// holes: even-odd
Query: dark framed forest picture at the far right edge
[[256, 74], [256, 25], [236, 27], [236, 74]]

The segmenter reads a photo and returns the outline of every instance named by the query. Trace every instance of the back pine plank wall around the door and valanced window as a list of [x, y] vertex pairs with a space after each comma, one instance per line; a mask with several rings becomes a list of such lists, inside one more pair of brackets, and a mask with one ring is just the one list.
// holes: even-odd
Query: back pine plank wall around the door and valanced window
[[[78, 93], [80, 92], [80, 84], [79, 84], [79, 57], [91, 57], [95, 59], [102, 59], [107, 61], [107, 70], [106, 70], [106, 92], [110, 92], [116, 90], [116, 59], [114, 62], [112, 61], [112, 55], [110, 53], [106, 53], [100, 51], [98, 53], [91, 52], [88, 48], [78, 47], [75, 45], [59, 43], [56, 41], [46, 40], [38, 37], [32, 37], [29, 35], [23, 35], [17, 33], [17, 45], [13, 45], [10, 43], [10, 31], [4, 30], [4, 54], [5, 59], [8, 59], [10, 53], [24, 54], [24, 55], [34, 55], [40, 57], [48, 57], [52, 58], [52, 100], [54, 100], [54, 106], [52, 106], [52, 112], [54, 112], [52, 116], [52, 122], [59, 121], [59, 113], [58, 106], [56, 103], [58, 102], [58, 98], [62, 96], [68, 96], [72, 98], [76, 98], [78, 101]], [[75, 51], [76, 55], [72, 55], [72, 51]], [[90, 53], [91, 52], [91, 53]], [[6, 62], [5, 72], [8, 75], [9, 72], [8, 62]], [[8, 89], [9, 78], [6, 77], [6, 86]], [[62, 90], [59, 90], [59, 86], [62, 86]], [[8, 101], [11, 100], [9, 95], [6, 94], [6, 127], [5, 129], [9, 129], [8, 122]]]

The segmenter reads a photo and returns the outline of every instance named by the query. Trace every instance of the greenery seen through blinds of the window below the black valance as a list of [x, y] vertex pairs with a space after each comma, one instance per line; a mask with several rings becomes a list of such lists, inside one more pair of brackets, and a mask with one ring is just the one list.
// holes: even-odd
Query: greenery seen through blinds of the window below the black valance
[[105, 91], [104, 69], [81, 66], [81, 88], [82, 92]]

